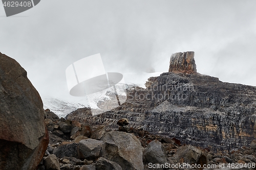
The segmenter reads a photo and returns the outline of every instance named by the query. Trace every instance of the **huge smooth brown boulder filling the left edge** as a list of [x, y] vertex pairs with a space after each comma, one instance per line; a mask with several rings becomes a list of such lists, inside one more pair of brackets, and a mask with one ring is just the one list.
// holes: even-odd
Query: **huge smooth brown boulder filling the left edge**
[[0, 169], [35, 169], [49, 143], [41, 98], [26, 70], [0, 53]]

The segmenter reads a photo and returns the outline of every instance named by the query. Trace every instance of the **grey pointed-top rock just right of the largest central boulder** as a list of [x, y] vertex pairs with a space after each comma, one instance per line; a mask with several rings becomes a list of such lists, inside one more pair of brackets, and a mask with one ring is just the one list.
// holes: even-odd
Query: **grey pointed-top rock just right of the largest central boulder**
[[164, 146], [160, 141], [153, 140], [148, 143], [147, 147], [143, 151], [143, 162], [145, 163], [160, 163], [165, 164], [166, 160], [166, 151]]

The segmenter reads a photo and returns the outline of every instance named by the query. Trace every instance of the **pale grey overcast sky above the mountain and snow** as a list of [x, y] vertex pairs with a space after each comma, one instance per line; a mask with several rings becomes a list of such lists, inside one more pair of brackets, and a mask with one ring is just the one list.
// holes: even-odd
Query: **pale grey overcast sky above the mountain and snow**
[[[68, 95], [66, 68], [100, 53], [107, 72], [167, 72], [194, 51], [197, 70], [256, 86], [256, 1], [43, 0], [6, 17], [0, 52], [17, 60], [41, 95]], [[1, 61], [0, 61], [1, 62]]]

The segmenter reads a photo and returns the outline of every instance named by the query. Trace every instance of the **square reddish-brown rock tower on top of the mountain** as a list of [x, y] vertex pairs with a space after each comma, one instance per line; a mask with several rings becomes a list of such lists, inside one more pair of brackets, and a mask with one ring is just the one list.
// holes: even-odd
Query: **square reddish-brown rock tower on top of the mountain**
[[169, 72], [196, 73], [194, 52], [175, 53], [170, 56]]

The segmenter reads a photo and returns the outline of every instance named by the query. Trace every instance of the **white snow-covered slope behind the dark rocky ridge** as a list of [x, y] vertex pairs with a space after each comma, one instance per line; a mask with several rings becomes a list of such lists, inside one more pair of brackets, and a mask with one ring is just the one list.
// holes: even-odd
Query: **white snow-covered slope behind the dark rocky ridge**
[[[126, 100], [126, 93], [123, 93], [120, 89], [124, 86], [125, 89], [132, 88], [134, 86], [145, 88], [145, 83], [148, 77], [159, 76], [162, 72], [153, 72], [141, 74], [124, 74], [124, 84], [117, 84], [116, 90], [120, 94], [120, 99]], [[131, 83], [133, 82], [133, 83]], [[41, 96], [42, 102], [44, 103], [45, 109], [50, 109], [59, 117], [66, 117], [72, 111], [79, 108], [90, 107], [92, 109], [103, 109], [112, 110], [118, 103], [115, 99], [114, 89], [105, 89], [97, 93], [93, 93], [84, 98], [72, 98], [72, 99], [62, 99], [55, 98], [54, 96]]]

